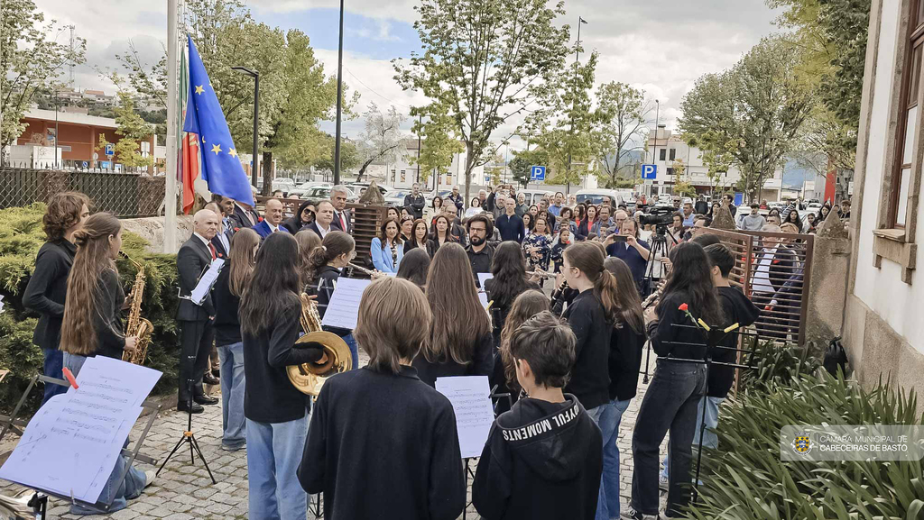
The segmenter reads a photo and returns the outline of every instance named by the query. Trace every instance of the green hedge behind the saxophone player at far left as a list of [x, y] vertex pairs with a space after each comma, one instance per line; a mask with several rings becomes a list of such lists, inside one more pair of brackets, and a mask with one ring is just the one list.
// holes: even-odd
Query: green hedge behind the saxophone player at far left
[[[22, 306], [22, 293], [35, 265], [35, 255], [44, 243], [42, 215], [45, 206], [0, 210], [0, 369], [9, 369], [0, 382], [0, 410], [9, 411], [26, 389], [31, 377], [42, 371], [42, 350], [32, 345], [37, 315]], [[154, 325], [145, 365], [164, 372], [154, 393], [176, 390], [179, 344], [176, 334], [176, 255], [152, 254], [140, 236], [124, 233], [122, 249], [145, 269], [146, 283], [141, 316]], [[126, 291], [135, 282], [137, 269], [128, 260], [118, 261]], [[41, 403], [41, 390], [33, 390], [28, 402], [34, 410]]]

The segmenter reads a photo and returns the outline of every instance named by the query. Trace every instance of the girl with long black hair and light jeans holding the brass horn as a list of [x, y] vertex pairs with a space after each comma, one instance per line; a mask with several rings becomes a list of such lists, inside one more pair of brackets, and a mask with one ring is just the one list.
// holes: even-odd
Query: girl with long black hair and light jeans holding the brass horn
[[292, 476], [308, 437], [310, 400], [289, 381], [286, 367], [326, 357], [321, 345], [295, 346], [301, 332], [301, 289], [295, 237], [270, 234], [257, 251], [240, 305], [250, 518], [308, 514], [308, 496]]

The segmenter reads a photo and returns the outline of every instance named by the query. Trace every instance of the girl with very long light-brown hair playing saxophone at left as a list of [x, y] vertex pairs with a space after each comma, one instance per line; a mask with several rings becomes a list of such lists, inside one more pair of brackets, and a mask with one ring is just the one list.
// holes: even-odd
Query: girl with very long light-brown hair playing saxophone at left
[[[116, 257], [122, 248], [122, 224], [110, 213], [96, 213], [74, 232], [74, 266], [67, 278], [67, 300], [61, 325], [61, 350], [64, 366], [77, 376], [88, 357], [105, 356], [122, 359], [124, 350], [133, 350], [137, 337], [126, 337], [119, 316], [125, 304], [125, 291], [118, 279]], [[128, 446], [128, 440], [125, 445]], [[126, 470], [128, 460], [119, 455], [99, 502], [111, 503], [109, 511], [128, 506], [154, 480], [153, 470], [142, 472], [128, 466], [125, 483], [116, 486]], [[94, 514], [95, 510], [77, 503], [72, 514]]]

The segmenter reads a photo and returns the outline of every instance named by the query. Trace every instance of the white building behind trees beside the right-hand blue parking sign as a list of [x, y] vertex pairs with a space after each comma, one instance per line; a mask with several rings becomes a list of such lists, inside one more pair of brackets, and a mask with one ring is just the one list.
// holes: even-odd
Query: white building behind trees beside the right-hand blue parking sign
[[[644, 191], [648, 195], [674, 193], [675, 162], [683, 162], [687, 182], [696, 187], [697, 193], [701, 194], [710, 193], [713, 187], [716, 190], [735, 187], [735, 183], [741, 177], [738, 169], [733, 165], [718, 179], [718, 186], [714, 186], [708, 175], [709, 167], [702, 163], [702, 152], [699, 148], [687, 145], [679, 134], [675, 134], [673, 130], [662, 125], [658, 127], [657, 133], [650, 135], [648, 139], [645, 163], [658, 166], [657, 178], [653, 182], [646, 182]], [[780, 200], [782, 187], [783, 168], [781, 167], [772, 172], [770, 178], [764, 182], [760, 200]]]

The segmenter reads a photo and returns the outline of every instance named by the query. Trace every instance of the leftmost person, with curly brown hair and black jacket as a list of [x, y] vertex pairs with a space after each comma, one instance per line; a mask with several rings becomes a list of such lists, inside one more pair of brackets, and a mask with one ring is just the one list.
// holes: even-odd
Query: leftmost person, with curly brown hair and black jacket
[[[42, 217], [47, 242], [35, 258], [35, 270], [26, 285], [22, 305], [39, 313], [39, 323], [32, 335], [32, 343], [42, 349], [42, 373], [48, 377], [64, 379], [64, 353], [58, 349], [61, 339], [61, 320], [64, 317], [67, 295], [67, 274], [74, 264], [74, 232], [90, 216], [90, 199], [82, 193], [58, 193], [48, 201]], [[46, 383], [42, 404], [58, 393], [67, 392], [66, 386]]]

